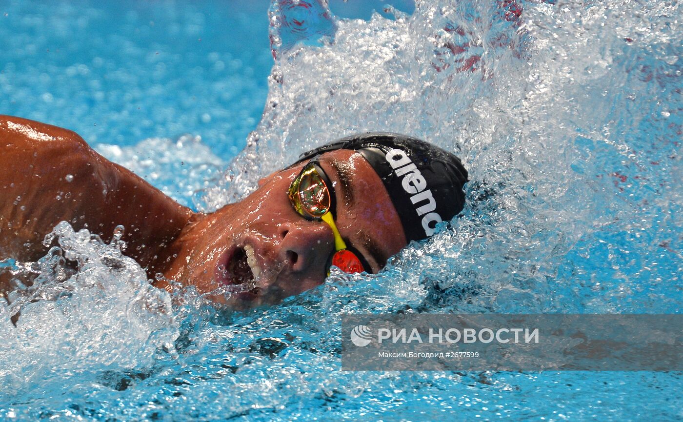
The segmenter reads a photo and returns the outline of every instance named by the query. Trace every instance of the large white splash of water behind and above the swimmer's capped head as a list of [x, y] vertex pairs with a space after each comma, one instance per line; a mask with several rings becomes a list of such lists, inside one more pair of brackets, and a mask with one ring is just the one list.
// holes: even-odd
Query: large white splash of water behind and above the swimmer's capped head
[[[458, 154], [471, 182], [453, 230], [406, 249], [389, 285], [486, 292], [458, 304], [469, 311], [680, 303], [658, 278], [682, 268], [678, 3], [418, 1], [409, 18], [337, 21], [333, 43], [289, 51], [288, 11], [273, 9], [266, 111], [207, 209], [310, 147], [403, 132]], [[591, 259], [603, 243], [622, 251], [605, 271]], [[633, 289], [646, 294], [627, 304]]]

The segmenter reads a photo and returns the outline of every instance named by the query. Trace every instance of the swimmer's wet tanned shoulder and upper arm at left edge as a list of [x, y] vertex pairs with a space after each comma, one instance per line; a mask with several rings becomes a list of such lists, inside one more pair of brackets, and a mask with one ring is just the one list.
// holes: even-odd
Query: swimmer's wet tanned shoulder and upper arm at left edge
[[75, 132], [0, 115], [0, 259], [38, 259], [44, 236], [68, 221], [104, 241], [124, 225], [126, 255], [150, 266], [191, 214]]

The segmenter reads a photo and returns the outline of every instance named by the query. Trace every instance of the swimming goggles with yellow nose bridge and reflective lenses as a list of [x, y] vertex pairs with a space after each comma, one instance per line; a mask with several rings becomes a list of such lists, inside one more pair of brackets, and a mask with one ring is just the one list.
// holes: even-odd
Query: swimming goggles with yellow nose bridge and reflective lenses
[[363, 272], [370, 268], [362, 258], [363, 255], [346, 246], [346, 242], [339, 234], [332, 210], [335, 209], [335, 195], [333, 185], [316, 160], [311, 160], [303, 167], [301, 173], [292, 181], [288, 196], [294, 210], [307, 220], [324, 221], [335, 235], [335, 252], [327, 263], [329, 268], [336, 266], [344, 272]]

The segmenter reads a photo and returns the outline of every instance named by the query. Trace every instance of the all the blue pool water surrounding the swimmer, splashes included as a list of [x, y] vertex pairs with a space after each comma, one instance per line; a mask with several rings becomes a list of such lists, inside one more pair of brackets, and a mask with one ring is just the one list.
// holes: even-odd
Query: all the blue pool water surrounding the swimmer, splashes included
[[0, 310], [0, 419], [683, 419], [680, 373], [339, 358], [343, 313], [680, 311], [681, 6], [281, 3], [1, 3], [0, 113], [76, 130], [200, 210], [313, 145], [406, 132], [462, 156], [462, 217], [380, 275], [238, 314], [149, 287], [115, 244], [60, 226], [83, 266], [59, 283], [44, 257]]

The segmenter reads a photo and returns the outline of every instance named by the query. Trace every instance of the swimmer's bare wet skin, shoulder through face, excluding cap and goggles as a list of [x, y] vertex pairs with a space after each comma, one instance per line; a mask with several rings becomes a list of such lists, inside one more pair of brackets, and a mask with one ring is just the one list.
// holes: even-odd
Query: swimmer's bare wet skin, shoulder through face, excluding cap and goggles
[[[0, 152], [0, 259], [38, 259], [46, 253], [44, 236], [62, 220], [104, 240], [121, 224], [129, 244], [124, 253], [156, 278], [154, 285], [192, 284], [201, 293], [215, 291], [209, 297], [218, 303], [241, 308], [320, 285], [335, 251], [329, 226], [305, 219], [288, 198], [305, 163], [266, 176], [243, 201], [203, 214], [99, 156], [66, 129], [0, 116]], [[372, 267], [367, 270], [378, 272], [406, 246], [387, 191], [360, 154], [337, 150], [319, 159], [334, 187], [340, 234], [363, 254]], [[253, 249], [257, 270], [248, 271], [245, 247]], [[249, 272], [245, 283], [244, 272], [235, 269], [240, 265]], [[1, 277], [6, 283], [8, 275], [0, 275], [0, 288]], [[241, 292], [226, 300], [225, 290]]]

